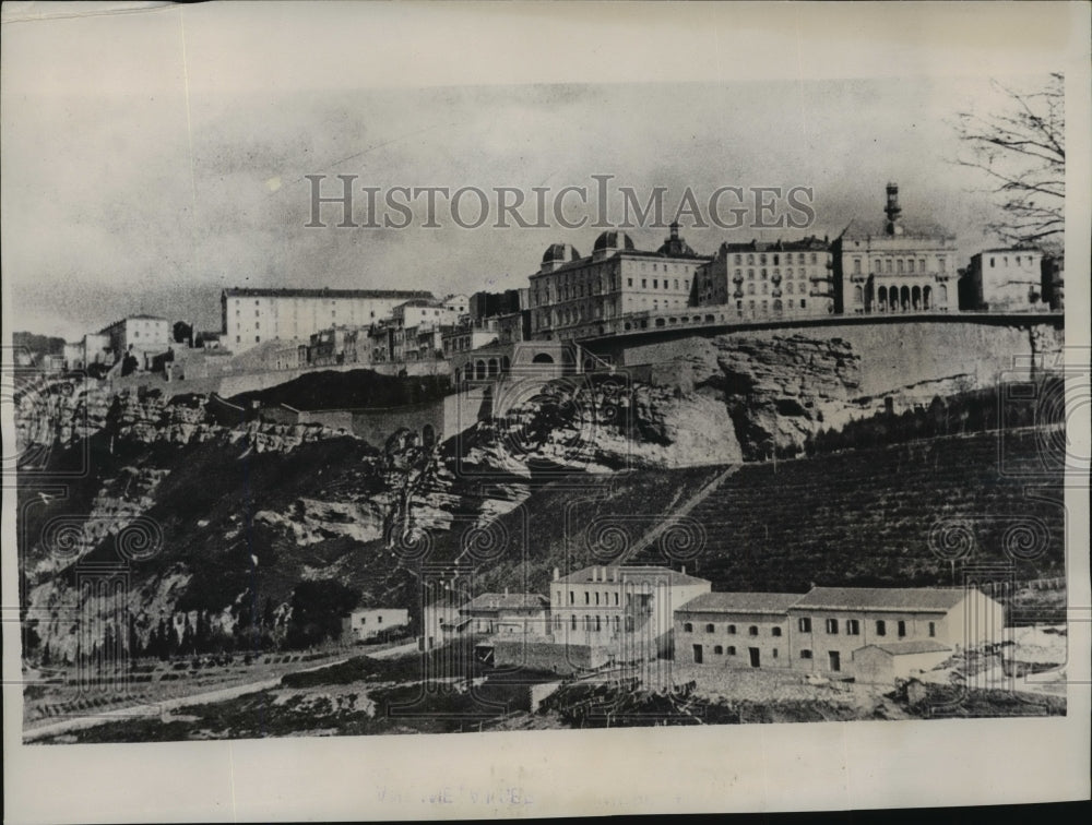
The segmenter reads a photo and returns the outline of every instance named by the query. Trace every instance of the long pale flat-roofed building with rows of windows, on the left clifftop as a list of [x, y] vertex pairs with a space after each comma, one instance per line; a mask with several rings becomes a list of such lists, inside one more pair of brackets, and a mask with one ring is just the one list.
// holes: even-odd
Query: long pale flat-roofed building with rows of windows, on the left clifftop
[[264, 340], [307, 340], [335, 324], [368, 326], [414, 299], [435, 300], [431, 292], [408, 289], [225, 289], [224, 346], [240, 352]]

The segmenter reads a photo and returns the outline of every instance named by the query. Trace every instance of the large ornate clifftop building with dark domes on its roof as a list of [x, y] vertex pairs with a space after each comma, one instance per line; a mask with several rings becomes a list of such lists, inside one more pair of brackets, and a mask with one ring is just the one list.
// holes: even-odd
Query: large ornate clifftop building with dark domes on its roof
[[710, 259], [690, 249], [678, 230], [672, 224], [655, 252], [637, 249], [628, 234], [614, 229], [595, 239], [589, 258], [568, 243], [550, 244], [531, 275], [532, 337], [595, 337], [608, 333], [612, 319], [687, 307], [695, 271]]

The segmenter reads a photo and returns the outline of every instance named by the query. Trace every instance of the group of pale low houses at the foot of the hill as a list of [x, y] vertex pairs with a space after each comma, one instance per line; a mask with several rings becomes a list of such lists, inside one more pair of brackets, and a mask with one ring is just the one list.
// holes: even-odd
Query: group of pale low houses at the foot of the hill
[[[357, 610], [345, 627], [366, 641], [393, 622], [408, 627], [408, 611]], [[668, 658], [890, 682], [998, 643], [1004, 629], [1004, 607], [974, 587], [713, 593], [685, 569], [594, 565], [555, 570], [549, 597], [443, 590], [424, 605], [418, 641], [562, 674]]]

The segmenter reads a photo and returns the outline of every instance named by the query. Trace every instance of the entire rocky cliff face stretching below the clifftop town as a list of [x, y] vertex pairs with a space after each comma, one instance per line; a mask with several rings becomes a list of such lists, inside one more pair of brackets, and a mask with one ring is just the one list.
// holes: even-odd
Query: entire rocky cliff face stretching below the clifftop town
[[142, 645], [161, 618], [179, 637], [199, 617], [232, 635], [265, 599], [283, 625], [293, 588], [309, 579], [393, 603], [412, 586], [406, 566], [423, 531], [442, 543], [490, 524], [532, 495], [543, 467], [605, 475], [763, 458], [887, 398], [899, 408], [992, 384], [1025, 351], [1053, 361], [1061, 342], [1057, 331], [972, 331], [981, 337], [927, 347], [913, 325], [904, 339], [845, 330], [688, 338], [653, 354], [654, 381], [622, 370], [529, 382], [441, 447], [408, 432], [368, 445], [316, 425], [226, 427], [200, 395], [111, 396], [95, 381], [28, 387], [16, 399], [21, 454], [95, 452], [90, 474], [63, 481], [66, 499], [35, 487], [40, 477], [20, 478], [25, 607], [41, 646], [72, 660], [81, 622], [106, 626], [116, 609], [78, 588], [76, 567], [115, 559], [122, 535], [155, 549], [127, 567]]

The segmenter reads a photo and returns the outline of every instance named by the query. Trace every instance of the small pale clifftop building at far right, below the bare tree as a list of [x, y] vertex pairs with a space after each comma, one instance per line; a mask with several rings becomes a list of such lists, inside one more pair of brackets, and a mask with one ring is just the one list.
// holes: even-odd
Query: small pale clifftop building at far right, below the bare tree
[[961, 310], [1049, 309], [1043, 300], [1043, 252], [1034, 248], [987, 249], [972, 255], [959, 287]]

